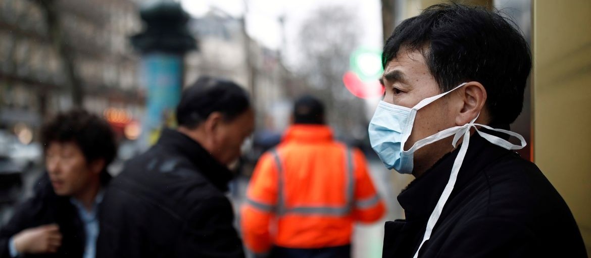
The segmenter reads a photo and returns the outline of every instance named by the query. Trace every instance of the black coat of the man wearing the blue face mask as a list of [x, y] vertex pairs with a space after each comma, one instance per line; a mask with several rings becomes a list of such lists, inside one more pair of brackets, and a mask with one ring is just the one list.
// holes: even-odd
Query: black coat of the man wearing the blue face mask
[[[385, 225], [383, 257], [413, 257], [459, 148], [398, 195], [406, 220]], [[472, 135], [452, 194], [418, 257], [587, 257], [563, 198], [540, 169]]]

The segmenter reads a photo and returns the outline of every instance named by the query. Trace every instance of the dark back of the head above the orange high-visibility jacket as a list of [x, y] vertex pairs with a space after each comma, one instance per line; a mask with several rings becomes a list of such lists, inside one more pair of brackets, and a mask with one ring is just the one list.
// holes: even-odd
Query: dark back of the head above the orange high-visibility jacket
[[316, 97], [304, 95], [294, 103], [294, 123], [308, 125], [324, 124], [324, 104]]

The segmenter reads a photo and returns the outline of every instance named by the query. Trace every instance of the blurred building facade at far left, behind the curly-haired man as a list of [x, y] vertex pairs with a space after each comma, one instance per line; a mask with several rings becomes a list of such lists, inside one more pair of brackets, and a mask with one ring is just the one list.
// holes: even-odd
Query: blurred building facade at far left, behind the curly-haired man
[[[83, 106], [116, 109], [124, 123], [142, 110], [138, 57], [128, 36], [141, 23], [131, 0], [0, 0], [0, 123], [37, 128], [45, 116], [73, 106], [63, 53], [51, 37], [47, 8], [59, 21], [65, 51], [83, 89]], [[109, 109], [111, 108], [111, 109]], [[109, 117], [108, 117], [109, 118]], [[115, 116], [111, 117], [115, 119]]]

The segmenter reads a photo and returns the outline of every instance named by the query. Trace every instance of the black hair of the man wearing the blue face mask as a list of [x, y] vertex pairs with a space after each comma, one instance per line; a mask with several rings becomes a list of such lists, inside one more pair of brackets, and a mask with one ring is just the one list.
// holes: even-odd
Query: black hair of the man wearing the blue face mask
[[385, 68], [401, 50], [421, 51], [441, 92], [466, 81], [486, 89], [491, 124], [514, 122], [531, 69], [524, 37], [498, 11], [460, 4], [433, 5], [405, 19], [384, 45]]

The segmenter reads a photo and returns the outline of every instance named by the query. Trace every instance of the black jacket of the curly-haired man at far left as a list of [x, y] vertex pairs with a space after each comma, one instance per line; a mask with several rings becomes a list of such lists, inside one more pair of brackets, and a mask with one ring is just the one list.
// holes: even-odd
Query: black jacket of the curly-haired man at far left
[[[110, 180], [111, 175], [106, 171], [102, 172], [103, 187]], [[82, 258], [84, 254], [86, 234], [78, 210], [70, 202], [70, 197], [60, 197], [55, 194], [47, 172], [44, 172], [35, 185], [34, 196], [18, 205], [11, 220], [0, 230], [0, 258], [11, 257], [8, 241], [15, 234], [27, 228], [53, 223], [59, 225], [62, 236], [57, 253], [20, 257]]]

